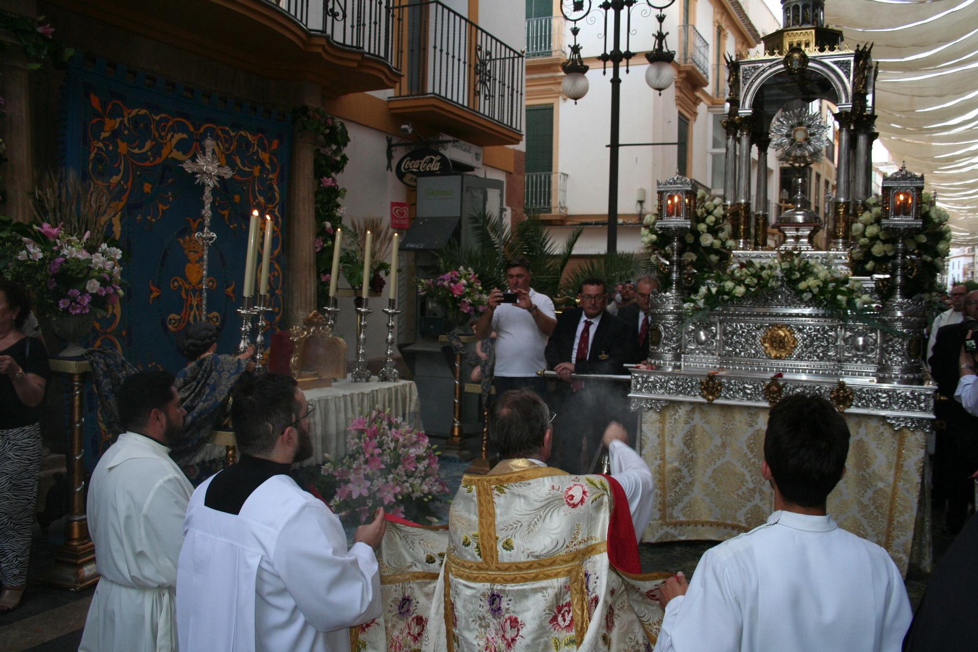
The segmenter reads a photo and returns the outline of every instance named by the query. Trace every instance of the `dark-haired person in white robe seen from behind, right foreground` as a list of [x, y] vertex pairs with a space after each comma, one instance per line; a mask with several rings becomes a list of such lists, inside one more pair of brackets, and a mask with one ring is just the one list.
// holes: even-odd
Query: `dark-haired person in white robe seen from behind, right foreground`
[[707, 550], [692, 582], [661, 589], [655, 650], [900, 650], [911, 608], [886, 550], [838, 527], [825, 499], [845, 473], [849, 428], [819, 396], [771, 409], [761, 470], [768, 522]]

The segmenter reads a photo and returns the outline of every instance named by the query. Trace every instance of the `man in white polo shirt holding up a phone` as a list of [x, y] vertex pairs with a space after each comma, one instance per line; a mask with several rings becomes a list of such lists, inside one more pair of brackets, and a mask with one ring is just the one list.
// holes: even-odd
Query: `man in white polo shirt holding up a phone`
[[530, 287], [530, 261], [512, 258], [506, 263], [506, 281], [515, 303], [504, 303], [502, 290], [489, 293], [489, 307], [475, 323], [475, 337], [484, 340], [496, 332], [496, 396], [528, 387], [547, 400], [547, 383], [537, 371], [547, 368], [544, 349], [554, 332], [554, 302]]

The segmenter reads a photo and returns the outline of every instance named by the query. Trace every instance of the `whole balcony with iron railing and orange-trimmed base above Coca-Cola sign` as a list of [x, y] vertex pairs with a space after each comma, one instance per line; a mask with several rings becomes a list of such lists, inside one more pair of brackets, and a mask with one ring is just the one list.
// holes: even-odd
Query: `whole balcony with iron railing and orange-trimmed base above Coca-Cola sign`
[[436, 1], [394, 6], [391, 114], [482, 146], [515, 145], [523, 128], [523, 56]]

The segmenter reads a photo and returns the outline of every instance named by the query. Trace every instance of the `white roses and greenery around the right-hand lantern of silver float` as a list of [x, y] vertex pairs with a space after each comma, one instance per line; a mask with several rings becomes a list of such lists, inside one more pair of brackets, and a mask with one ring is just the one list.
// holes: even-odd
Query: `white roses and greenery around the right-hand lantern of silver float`
[[[907, 294], [911, 297], [923, 295], [932, 299], [940, 289], [937, 277], [945, 269], [945, 258], [951, 251], [951, 226], [948, 212], [935, 205], [930, 193], [921, 197], [920, 218], [923, 222], [920, 231], [904, 240], [907, 261]], [[879, 196], [867, 199], [866, 210], [852, 225], [853, 271], [857, 276], [891, 273], [891, 263], [896, 259], [896, 239], [883, 228], [883, 209]], [[887, 287], [884, 299], [892, 294]]]

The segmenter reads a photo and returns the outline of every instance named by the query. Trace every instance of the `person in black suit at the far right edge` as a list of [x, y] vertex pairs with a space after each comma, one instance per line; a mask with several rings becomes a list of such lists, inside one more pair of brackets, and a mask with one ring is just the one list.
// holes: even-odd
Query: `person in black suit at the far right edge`
[[978, 291], [964, 300], [964, 321], [942, 326], [930, 356], [930, 371], [937, 383], [934, 417], [937, 449], [934, 453], [934, 485], [944, 488], [939, 495], [948, 501], [945, 525], [956, 535], [964, 525], [968, 501], [974, 495], [971, 474], [978, 470], [978, 417], [973, 417], [955, 400], [960, 376], [959, 355], [969, 321], [978, 319]]

